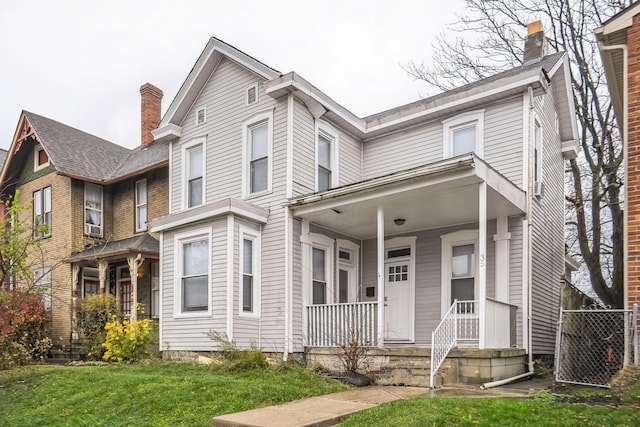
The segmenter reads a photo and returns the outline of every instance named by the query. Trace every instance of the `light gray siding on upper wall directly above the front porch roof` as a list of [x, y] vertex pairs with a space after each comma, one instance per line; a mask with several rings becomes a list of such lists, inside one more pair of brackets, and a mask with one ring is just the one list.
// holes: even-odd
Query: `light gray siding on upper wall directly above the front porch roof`
[[[522, 185], [522, 114], [522, 96], [487, 105], [484, 113], [484, 160], [518, 186]], [[444, 119], [366, 141], [363, 178], [442, 160]]]

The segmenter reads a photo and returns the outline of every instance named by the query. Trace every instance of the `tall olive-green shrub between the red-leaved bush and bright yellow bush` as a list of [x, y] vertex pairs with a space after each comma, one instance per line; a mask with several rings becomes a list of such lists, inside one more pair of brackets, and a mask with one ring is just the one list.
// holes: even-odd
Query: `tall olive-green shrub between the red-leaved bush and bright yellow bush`
[[81, 300], [77, 309], [76, 332], [81, 339], [82, 359], [102, 360], [107, 338], [105, 326], [113, 316], [119, 316], [118, 303], [113, 295], [90, 295]]

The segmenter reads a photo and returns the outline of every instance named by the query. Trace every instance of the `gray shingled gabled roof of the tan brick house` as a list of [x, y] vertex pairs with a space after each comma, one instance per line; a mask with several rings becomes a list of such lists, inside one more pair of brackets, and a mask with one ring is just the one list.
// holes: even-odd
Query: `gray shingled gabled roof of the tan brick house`
[[98, 184], [111, 184], [168, 164], [169, 148], [158, 142], [130, 150], [47, 117], [23, 111], [0, 182], [8, 177], [12, 159], [24, 139], [33, 137], [45, 150], [56, 172]]

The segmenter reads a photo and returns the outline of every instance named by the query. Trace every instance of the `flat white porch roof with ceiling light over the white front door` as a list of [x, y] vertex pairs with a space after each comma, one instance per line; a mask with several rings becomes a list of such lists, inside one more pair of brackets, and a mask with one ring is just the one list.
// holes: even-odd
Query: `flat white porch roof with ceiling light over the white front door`
[[[487, 218], [526, 212], [526, 193], [475, 154], [289, 199], [293, 215], [365, 239], [376, 236], [378, 207], [386, 234], [478, 221], [478, 185], [487, 184]], [[394, 224], [394, 219], [404, 224]]]

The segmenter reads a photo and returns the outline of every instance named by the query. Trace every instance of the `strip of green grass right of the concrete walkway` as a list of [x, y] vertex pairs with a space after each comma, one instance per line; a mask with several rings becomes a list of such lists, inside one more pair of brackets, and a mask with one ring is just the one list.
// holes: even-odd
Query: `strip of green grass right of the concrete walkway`
[[640, 410], [545, 399], [416, 398], [361, 412], [340, 424], [354, 426], [637, 426]]

